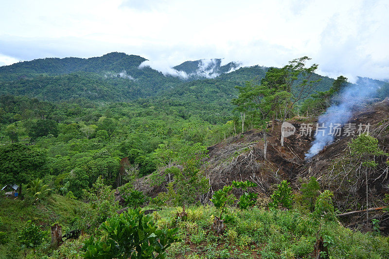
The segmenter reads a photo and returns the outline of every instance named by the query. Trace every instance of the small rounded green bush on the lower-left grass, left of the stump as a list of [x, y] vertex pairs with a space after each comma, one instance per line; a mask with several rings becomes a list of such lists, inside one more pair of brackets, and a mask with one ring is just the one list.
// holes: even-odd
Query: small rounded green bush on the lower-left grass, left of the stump
[[44, 236], [45, 233], [40, 227], [29, 220], [24, 227], [20, 229], [18, 240], [21, 244], [21, 248], [35, 249], [43, 242]]

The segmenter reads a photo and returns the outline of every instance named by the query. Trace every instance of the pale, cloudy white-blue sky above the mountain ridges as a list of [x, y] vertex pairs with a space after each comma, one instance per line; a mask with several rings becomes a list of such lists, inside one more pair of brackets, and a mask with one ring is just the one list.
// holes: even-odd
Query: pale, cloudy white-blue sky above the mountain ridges
[[162, 72], [224, 58], [389, 79], [388, 0], [0, 0], [0, 66], [125, 52]]

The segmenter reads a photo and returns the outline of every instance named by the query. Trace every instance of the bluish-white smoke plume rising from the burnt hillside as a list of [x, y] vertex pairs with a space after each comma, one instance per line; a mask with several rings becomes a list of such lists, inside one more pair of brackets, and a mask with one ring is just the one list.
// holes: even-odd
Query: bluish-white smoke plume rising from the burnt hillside
[[339, 96], [339, 102], [333, 104], [319, 117], [318, 126], [322, 131], [315, 136], [311, 148], [305, 154], [305, 159], [317, 155], [326, 145], [331, 144], [335, 139], [330, 132], [331, 126], [336, 124], [343, 126], [347, 123], [353, 115], [354, 107], [374, 97], [379, 88], [377, 84], [368, 82], [366, 79], [360, 79], [356, 85], [346, 86]]

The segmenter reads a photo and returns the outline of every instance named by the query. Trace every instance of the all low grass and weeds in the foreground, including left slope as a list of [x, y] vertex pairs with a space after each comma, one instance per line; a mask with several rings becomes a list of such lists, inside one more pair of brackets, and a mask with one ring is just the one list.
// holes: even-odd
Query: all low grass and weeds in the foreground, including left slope
[[[23, 202], [2, 200], [6, 205], [0, 213], [3, 228], [17, 231], [25, 220], [33, 219], [44, 229], [54, 222], [60, 222], [65, 228], [75, 216], [74, 208], [86, 206], [80, 202], [53, 195], [46, 204], [23, 207]], [[3, 203], [4, 202], [4, 203]], [[149, 209], [146, 207], [144, 209]], [[224, 234], [216, 235], [212, 230], [215, 207], [191, 206], [186, 208], [185, 221], [177, 219], [181, 207], [164, 207], [153, 213], [154, 221], [160, 228], [178, 227], [181, 242], [174, 243], [167, 252], [167, 259], [304, 259], [310, 258], [316, 241], [315, 233], [304, 224], [307, 216], [303, 209], [267, 210], [251, 208], [232, 209], [231, 222], [226, 224]], [[353, 232], [338, 222], [329, 222], [323, 226], [322, 235], [331, 236], [335, 245], [329, 248], [329, 255], [336, 259], [384, 259], [389, 258], [389, 238], [374, 233]], [[49, 237], [48, 237], [49, 238]], [[58, 250], [41, 247], [41, 251], [50, 251], [51, 259], [80, 259], [80, 248], [88, 235], [78, 240], [66, 241]], [[46, 243], [46, 246], [48, 245]], [[17, 251], [17, 242], [10, 242], [1, 248], [1, 258], [12, 257]], [[47, 257], [46, 257], [47, 258]]]

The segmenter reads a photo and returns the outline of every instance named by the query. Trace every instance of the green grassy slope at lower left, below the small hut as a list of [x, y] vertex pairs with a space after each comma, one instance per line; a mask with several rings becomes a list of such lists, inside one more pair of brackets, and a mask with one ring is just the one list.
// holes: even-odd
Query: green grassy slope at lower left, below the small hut
[[54, 223], [62, 225], [65, 233], [76, 216], [75, 209], [86, 207], [85, 203], [71, 200], [64, 196], [52, 194], [47, 200], [40, 203], [30, 203], [27, 199], [0, 199], [0, 217], [2, 225], [0, 231], [7, 233], [8, 242], [0, 245], [0, 259], [23, 258], [23, 252], [18, 243], [18, 231], [26, 221], [32, 220], [48, 231], [45, 242], [41, 245], [42, 251], [50, 250], [50, 226]]

